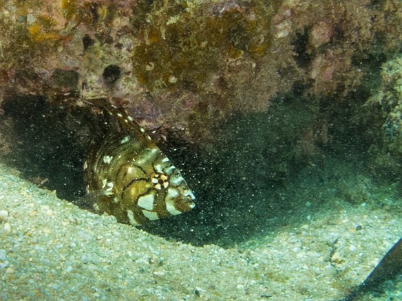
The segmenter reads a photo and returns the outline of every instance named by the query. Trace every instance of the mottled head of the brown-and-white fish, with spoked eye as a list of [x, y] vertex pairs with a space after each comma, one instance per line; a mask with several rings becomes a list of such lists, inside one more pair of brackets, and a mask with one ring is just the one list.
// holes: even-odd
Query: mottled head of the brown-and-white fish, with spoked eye
[[122, 201], [129, 210], [132, 225], [178, 215], [195, 207], [195, 196], [180, 170], [159, 148], [145, 148], [126, 170], [120, 168], [120, 173], [125, 175]]

